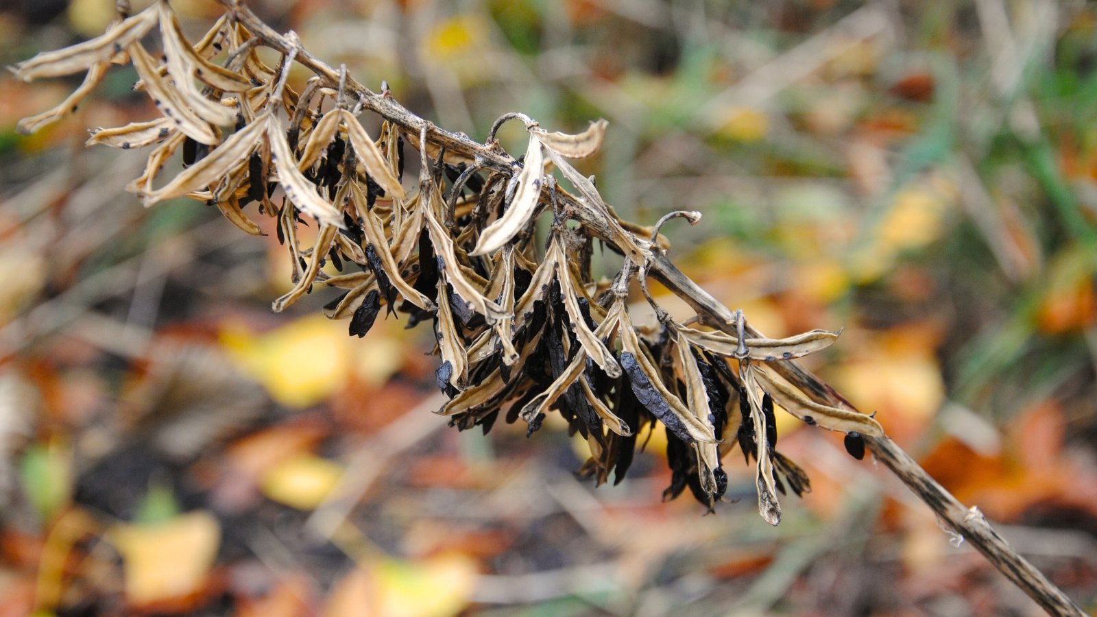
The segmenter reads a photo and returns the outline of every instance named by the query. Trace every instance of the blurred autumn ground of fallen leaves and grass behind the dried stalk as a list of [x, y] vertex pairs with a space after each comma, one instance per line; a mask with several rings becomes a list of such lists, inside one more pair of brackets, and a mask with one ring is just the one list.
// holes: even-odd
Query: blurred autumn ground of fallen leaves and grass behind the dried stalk
[[[219, 14], [172, 3], [191, 34]], [[845, 327], [811, 368], [1097, 606], [1097, 7], [249, 5], [474, 138], [508, 111], [609, 120], [583, 170], [618, 212], [702, 212], [667, 227], [672, 257], [767, 334]], [[5, 65], [113, 16], [0, 8]], [[559, 424], [445, 430], [427, 329], [351, 339], [321, 288], [271, 314], [290, 272], [273, 233], [196, 202], [144, 211], [122, 192], [143, 157], [83, 149], [87, 127], [154, 115], [129, 71], [29, 137], [16, 121], [77, 81], [0, 77], [0, 615], [1037, 610], [894, 479], [788, 418], [814, 491], [778, 529], [734, 460], [715, 515], [660, 504], [658, 434], [595, 490]]]

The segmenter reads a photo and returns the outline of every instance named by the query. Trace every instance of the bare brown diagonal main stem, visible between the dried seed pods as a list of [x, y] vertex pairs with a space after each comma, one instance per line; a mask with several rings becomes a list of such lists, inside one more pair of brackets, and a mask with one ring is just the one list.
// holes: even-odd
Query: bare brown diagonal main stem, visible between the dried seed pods
[[[439, 128], [418, 115], [408, 111], [393, 98], [377, 94], [358, 82], [350, 76], [328, 66], [294, 42], [268, 26], [250, 9], [238, 0], [218, 0], [245, 27], [259, 37], [264, 45], [282, 52], [296, 53], [296, 61], [313, 70], [325, 80], [327, 86], [339, 88], [340, 78], [344, 79], [344, 88], [353, 92], [363, 109], [367, 109], [383, 119], [400, 126], [409, 138], [418, 139], [426, 127], [427, 139], [442, 146], [449, 153], [465, 156], [477, 161], [487, 169], [509, 171], [514, 159], [498, 148], [495, 144], [480, 144], [462, 133], [453, 133]], [[596, 209], [586, 207], [576, 198], [563, 191], [557, 191], [561, 205], [574, 212], [575, 217], [596, 236], [607, 242], [611, 247], [623, 250], [614, 240], [614, 226], [610, 224]], [[735, 317], [731, 310], [717, 302], [706, 291], [675, 266], [667, 256], [658, 249], [653, 250], [649, 272], [671, 292], [692, 306], [701, 319], [715, 328], [736, 335]], [[754, 336], [758, 333], [747, 325], [747, 332]], [[781, 377], [818, 403], [846, 407], [856, 411], [852, 404], [844, 399], [827, 383], [806, 371], [793, 360], [779, 360], [771, 366]], [[1084, 616], [1082, 608], [1067, 597], [1039, 570], [1014, 550], [1005, 539], [994, 530], [986, 517], [977, 508], [965, 508], [943, 486], [929, 476], [918, 463], [911, 458], [889, 437], [864, 437], [866, 445], [884, 465], [892, 471], [918, 498], [926, 503], [955, 532], [971, 542], [986, 559], [1010, 581], [1034, 599], [1051, 615]]]

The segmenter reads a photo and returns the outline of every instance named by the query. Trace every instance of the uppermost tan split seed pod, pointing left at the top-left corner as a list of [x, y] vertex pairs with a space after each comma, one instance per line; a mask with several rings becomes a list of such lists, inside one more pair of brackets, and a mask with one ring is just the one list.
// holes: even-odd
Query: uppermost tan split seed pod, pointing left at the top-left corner
[[99, 63], [109, 63], [132, 43], [145, 36], [154, 25], [156, 11], [150, 7], [112, 24], [102, 36], [56, 52], [45, 52], [15, 65], [15, 77], [23, 81], [60, 77], [88, 70]]

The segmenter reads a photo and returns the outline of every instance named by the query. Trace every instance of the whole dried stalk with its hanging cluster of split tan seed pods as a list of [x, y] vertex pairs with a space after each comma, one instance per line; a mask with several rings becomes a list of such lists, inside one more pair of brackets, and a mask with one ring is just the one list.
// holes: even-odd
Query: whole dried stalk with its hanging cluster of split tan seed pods
[[[245, 206], [255, 202], [260, 215], [276, 217], [295, 287], [274, 302], [275, 311], [326, 284], [347, 290], [327, 312], [349, 318], [352, 336], [363, 336], [383, 310], [405, 313], [411, 324], [432, 322], [442, 358], [437, 382], [450, 396], [439, 413], [459, 429], [479, 426], [487, 433], [502, 415], [509, 423], [522, 419], [532, 434], [556, 411], [590, 445], [580, 472], [602, 483], [610, 473], [620, 482], [637, 435], [661, 424], [674, 472], [664, 497], [689, 487], [710, 508], [726, 489], [723, 463], [737, 445], [748, 463], [755, 461], [759, 513], [777, 525], [777, 494], [811, 490], [803, 470], [776, 449], [780, 404], [810, 425], [845, 433], [847, 450], [858, 459], [867, 447], [1049, 612], [1082, 614], [976, 509], [963, 508], [898, 449], [873, 417], [795, 362], [833, 344], [838, 333], [767, 338], [667, 259], [659, 226], [674, 216], [695, 223], [700, 214], [671, 213], [654, 228], [615, 215], [592, 180], [569, 162], [598, 150], [606, 121], [568, 135], [508, 114], [493, 126], [488, 143], [478, 144], [411, 114], [387, 91], [371, 92], [346, 69], [310, 56], [292, 32], [280, 35], [238, 2], [222, 3], [225, 16], [196, 44], [185, 40], [171, 7], [160, 0], [136, 15], [120, 15], [98, 38], [20, 64], [15, 72], [24, 80], [87, 72], [61, 105], [26, 119], [20, 130], [33, 132], [70, 113], [110, 64], [129, 61], [140, 76], [137, 87], [162, 117], [95, 130], [88, 141], [122, 149], [159, 144], [128, 190], [146, 205], [183, 195], [216, 205], [249, 234], [259, 226]], [[154, 29], [162, 63], [142, 44]], [[280, 66], [264, 65], [256, 54], [260, 46], [280, 52]], [[299, 93], [286, 85], [295, 61], [315, 74]], [[385, 120], [377, 139], [358, 121], [363, 110]], [[529, 133], [521, 160], [494, 138], [511, 119], [523, 120]], [[420, 157], [411, 192], [400, 181], [405, 143]], [[154, 188], [180, 147], [186, 168]], [[550, 166], [578, 194], [558, 188]], [[319, 226], [309, 248], [297, 240], [303, 215]], [[533, 236], [542, 215], [553, 221], [543, 248]], [[568, 220], [579, 226], [568, 227]], [[596, 239], [625, 258], [612, 280], [591, 270]], [[321, 267], [328, 260], [340, 272], [357, 271], [327, 276]], [[706, 329], [663, 311], [647, 293], [648, 276], [683, 298]], [[655, 308], [655, 327], [632, 322], [626, 299], [634, 287]]]

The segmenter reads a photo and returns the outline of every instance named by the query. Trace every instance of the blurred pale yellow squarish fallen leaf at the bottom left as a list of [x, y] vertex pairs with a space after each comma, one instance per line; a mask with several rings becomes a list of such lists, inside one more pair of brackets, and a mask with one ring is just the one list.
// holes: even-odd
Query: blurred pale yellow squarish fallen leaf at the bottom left
[[145, 606], [197, 593], [217, 556], [220, 527], [208, 512], [167, 523], [121, 524], [108, 532], [122, 553], [126, 598]]

